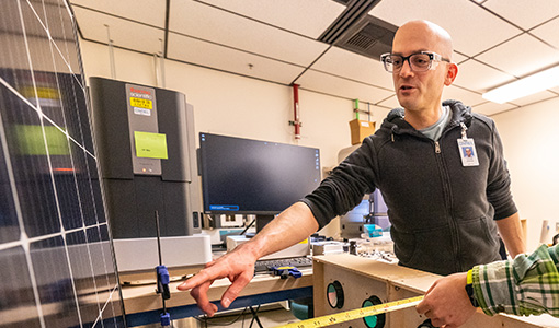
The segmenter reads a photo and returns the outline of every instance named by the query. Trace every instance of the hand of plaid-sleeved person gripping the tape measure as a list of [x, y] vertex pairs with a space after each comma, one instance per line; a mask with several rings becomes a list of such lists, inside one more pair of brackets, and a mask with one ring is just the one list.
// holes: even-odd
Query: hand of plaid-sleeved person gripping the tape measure
[[429, 289], [415, 309], [430, 318], [435, 327], [459, 327], [476, 312], [465, 288], [466, 273], [441, 278]]

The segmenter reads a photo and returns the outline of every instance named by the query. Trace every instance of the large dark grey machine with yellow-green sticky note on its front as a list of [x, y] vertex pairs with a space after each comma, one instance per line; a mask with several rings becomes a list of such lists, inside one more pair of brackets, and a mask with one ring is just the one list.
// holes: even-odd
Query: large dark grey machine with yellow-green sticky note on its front
[[193, 108], [184, 94], [90, 79], [92, 120], [114, 238], [199, 233]]

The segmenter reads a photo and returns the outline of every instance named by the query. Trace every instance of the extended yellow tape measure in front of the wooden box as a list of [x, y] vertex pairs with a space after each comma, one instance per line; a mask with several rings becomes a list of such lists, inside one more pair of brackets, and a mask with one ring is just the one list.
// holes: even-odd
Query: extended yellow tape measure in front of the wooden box
[[345, 323], [355, 320], [358, 318], [364, 318], [368, 316], [375, 316], [378, 314], [392, 312], [397, 309], [402, 309], [407, 307], [412, 307], [418, 305], [424, 296], [417, 296], [411, 298], [404, 298], [400, 301], [393, 301], [388, 303], [383, 303], [374, 306], [362, 307], [357, 309], [352, 309], [347, 312], [334, 313], [331, 315], [317, 317], [312, 319], [307, 319], [303, 321], [292, 323], [283, 326], [277, 326], [276, 328], [317, 328], [317, 327], [326, 327], [334, 324]]

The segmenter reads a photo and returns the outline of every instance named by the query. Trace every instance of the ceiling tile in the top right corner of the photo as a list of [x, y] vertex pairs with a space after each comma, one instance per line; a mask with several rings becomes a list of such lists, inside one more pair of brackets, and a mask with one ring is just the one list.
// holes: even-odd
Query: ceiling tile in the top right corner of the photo
[[524, 30], [529, 30], [559, 13], [559, 1], [549, 0], [489, 0], [483, 2], [483, 7]]

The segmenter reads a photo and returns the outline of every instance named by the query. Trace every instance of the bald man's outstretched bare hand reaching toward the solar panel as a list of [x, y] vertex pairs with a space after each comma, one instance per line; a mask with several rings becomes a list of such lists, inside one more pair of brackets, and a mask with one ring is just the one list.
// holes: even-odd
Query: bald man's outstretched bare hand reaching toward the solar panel
[[221, 296], [221, 306], [227, 308], [254, 276], [256, 258], [248, 249], [243, 251], [244, 247], [240, 245], [233, 251], [208, 262], [204, 270], [178, 286], [181, 291], [191, 290], [192, 297], [196, 300], [198, 307], [208, 316], [213, 316], [217, 312], [217, 306], [209, 303], [207, 297], [207, 291], [214, 280], [228, 278], [231, 282], [231, 285]]

